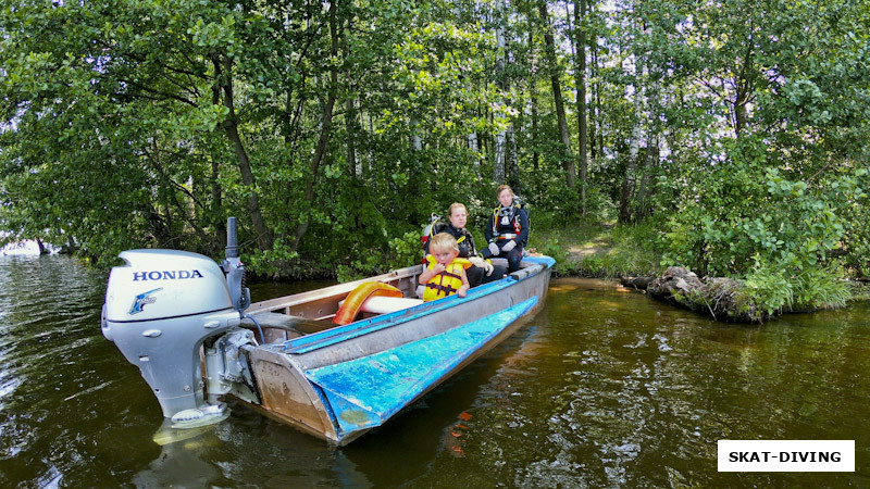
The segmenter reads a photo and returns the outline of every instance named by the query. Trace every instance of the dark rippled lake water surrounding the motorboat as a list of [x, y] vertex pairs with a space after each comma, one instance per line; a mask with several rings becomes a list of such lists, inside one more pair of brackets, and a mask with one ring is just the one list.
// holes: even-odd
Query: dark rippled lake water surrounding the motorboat
[[[157, 400], [100, 334], [105, 278], [0, 258], [0, 487], [870, 487], [866, 303], [724, 325], [552, 280], [515, 336], [348, 447], [232, 403], [161, 447]], [[720, 439], [854, 439], [856, 472], [718, 473]]]

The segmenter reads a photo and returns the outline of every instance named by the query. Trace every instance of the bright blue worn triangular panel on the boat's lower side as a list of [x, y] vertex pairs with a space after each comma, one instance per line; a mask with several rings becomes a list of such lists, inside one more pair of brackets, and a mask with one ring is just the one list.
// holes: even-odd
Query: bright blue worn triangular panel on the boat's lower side
[[380, 426], [537, 304], [533, 297], [496, 314], [373, 355], [306, 372], [319, 386], [341, 438]]

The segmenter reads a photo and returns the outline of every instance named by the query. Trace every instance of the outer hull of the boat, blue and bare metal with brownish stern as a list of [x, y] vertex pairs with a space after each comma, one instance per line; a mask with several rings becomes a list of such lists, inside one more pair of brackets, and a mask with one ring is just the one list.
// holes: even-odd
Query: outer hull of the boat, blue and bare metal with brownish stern
[[[254, 408], [346, 444], [515, 333], [544, 305], [552, 264], [546, 256], [527, 259], [523, 269], [465, 298], [249, 348], [262, 400]], [[266, 313], [271, 306], [252, 308]]]

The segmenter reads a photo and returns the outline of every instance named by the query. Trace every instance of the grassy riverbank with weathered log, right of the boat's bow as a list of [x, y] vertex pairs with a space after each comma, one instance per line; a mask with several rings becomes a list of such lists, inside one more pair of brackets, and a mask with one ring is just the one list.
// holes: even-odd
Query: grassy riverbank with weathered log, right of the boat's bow
[[768, 266], [755, 267], [743, 278], [699, 278], [662, 264], [664, 250], [648, 224], [545, 230], [537, 242], [538, 251], [556, 258], [557, 276], [619, 278], [635, 290], [717, 321], [762, 323], [786, 313], [836, 310], [870, 300], [867, 279], [845, 276], [835, 264], [794, 275]]

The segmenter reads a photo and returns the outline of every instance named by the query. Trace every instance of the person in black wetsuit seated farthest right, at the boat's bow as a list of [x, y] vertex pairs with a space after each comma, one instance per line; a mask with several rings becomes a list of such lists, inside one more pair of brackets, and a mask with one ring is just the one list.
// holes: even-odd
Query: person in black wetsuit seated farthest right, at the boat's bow
[[501, 256], [508, 260], [508, 273], [520, 269], [523, 247], [529, 239], [529, 212], [513, 201], [513, 190], [507, 185], [498, 187], [498, 208], [489, 214], [484, 237], [489, 243], [483, 258]]

